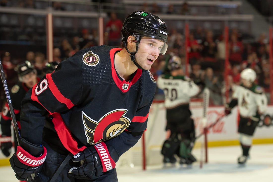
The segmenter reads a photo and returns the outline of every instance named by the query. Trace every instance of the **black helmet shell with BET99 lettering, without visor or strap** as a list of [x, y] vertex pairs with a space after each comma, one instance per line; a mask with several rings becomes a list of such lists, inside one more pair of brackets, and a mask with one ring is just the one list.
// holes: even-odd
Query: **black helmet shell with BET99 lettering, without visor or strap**
[[126, 42], [128, 36], [133, 33], [167, 42], [169, 34], [165, 22], [160, 17], [145, 11], [135, 11], [127, 16], [121, 32], [122, 42]]

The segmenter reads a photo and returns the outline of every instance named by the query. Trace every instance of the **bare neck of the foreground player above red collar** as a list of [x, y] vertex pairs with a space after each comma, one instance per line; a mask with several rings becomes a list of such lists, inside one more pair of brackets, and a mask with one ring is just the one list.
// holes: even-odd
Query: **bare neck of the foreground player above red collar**
[[137, 67], [130, 59], [130, 55], [125, 49], [122, 49], [115, 54], [114, 64], [118, 75], [125, 81], [129, 81], [131, 75], [137, 70]]

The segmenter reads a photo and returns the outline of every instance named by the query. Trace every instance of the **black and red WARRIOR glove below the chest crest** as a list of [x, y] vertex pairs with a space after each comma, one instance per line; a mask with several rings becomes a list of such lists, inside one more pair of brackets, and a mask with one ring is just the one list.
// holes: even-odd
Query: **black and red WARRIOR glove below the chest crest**
[[95, 180], [116, 165], [104, 142], [90, 146], [74, 155], [72, 162], [75, 166], [78, 163], [79, 167], [71, 168], [69, 175], [82, 180]]

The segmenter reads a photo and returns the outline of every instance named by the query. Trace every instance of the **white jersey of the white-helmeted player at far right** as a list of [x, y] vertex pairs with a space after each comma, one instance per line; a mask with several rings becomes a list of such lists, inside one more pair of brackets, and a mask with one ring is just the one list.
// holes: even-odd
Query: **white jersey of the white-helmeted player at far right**
[[242, 85], [235, 86], [232, 97], [238, 100], [239, 112], [243, 117], [255, 116], [257, 111], [260, 114], [266, 111], [267, 98], [263, 89], [258, 85], [251, 88]]

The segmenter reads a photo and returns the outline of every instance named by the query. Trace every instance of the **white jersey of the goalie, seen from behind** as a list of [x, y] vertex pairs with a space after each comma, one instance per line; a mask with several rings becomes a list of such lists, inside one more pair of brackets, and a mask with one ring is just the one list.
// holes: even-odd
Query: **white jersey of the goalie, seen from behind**
[[200, 92], [199, 87], [185, 76], [172, 77], [164, 74], [158, 77], [156, 83], [164, 91], [166, 108], [188, 104], [190, 98]]

